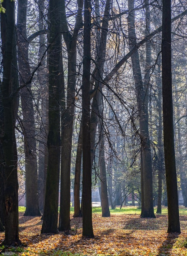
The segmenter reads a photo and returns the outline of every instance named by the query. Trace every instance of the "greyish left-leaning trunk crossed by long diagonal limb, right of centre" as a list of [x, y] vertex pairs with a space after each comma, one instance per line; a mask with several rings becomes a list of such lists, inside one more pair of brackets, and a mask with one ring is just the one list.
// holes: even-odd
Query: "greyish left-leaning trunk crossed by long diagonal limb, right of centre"
[[[129, 10], [134, 9], [134, 0], [128, 0]], [[131, 11], [128, 15], [128, 29], [129, 29], [129, 49], [132, 50], [136, 45], [136, 32], [135, 32], [135, 12]], [[152, 162], [151, 162], [151, 147], [149, 140], [149, 127], [148, 127], [148, 85], [143, 86], [142, 75], [139, 63], [139, 55], [136, 51], [131, 56], [133, 77], [136, 87], [136, 99], [139, 111], [139, 124], [140, 124], [140, 139], [142, 145], [142, 160], [143, 160], [143, 178], [144, 178], [144, 212], [142, 218], [156, 218], [153, 208], [153, 195], [152, 195]]]

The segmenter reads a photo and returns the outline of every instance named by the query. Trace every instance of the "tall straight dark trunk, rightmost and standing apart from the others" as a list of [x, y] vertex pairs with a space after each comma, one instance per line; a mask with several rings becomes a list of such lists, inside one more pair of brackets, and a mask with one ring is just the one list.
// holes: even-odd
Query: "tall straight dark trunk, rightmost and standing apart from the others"
[[180, 233], [175, 146], [173, 128], [172, 72], [171, 72], [171, 0], [163, 0], [162, 7], [162, 98], [163, 135], [168, 195], [168, 233]]

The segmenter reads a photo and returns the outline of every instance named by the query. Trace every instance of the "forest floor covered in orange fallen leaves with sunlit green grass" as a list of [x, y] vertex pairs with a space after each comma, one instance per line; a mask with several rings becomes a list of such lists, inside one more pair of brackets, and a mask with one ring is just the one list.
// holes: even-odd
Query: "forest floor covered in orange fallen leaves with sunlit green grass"
[[[24, 217], [19, 212], [19, 238], [23, 246], [8, 248], [4, 255], [33, 256], [187, 256], [187, 210], [180, 207], [181, 231], [167, 234], [167, 208], [156, 219], [139, 218], [137, 207], [127, 206], [101, 217], [101, 208], [93, 208], [95, 238], [82, 239], [82, 219], [73, 218], [68, 234], [40, 234], [40, 217]], [[0, 242], [4, 233], [0, 233]], [[186, 247], [185, 247], [186, 246]], [[3, 248], [0, 247], [0, 250]]]

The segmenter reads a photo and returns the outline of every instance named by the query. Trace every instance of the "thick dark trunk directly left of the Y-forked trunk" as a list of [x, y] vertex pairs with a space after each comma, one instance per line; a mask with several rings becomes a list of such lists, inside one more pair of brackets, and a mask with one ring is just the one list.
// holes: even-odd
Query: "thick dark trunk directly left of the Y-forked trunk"
[[58, 232], [58, 191], [60, 168], [60, 1], [49, 1], [49, 134], [45, 205], [41, 233]]

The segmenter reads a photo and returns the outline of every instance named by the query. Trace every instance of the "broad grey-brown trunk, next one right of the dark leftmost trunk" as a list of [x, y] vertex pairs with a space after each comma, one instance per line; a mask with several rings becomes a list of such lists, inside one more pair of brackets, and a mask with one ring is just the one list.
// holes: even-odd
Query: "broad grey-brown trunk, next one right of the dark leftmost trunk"
[[[18, 65], [19, 82], [23, 86], [30, 78], [27, 40], [27, 0], [18, 0]], [[35, 120], [31, 84], [20, 92], [23, 120], [21, 126], [24, 134], [26, 210], [24, 216], [41, 216], [38, 199], [38, 173], [36, 159]]]

